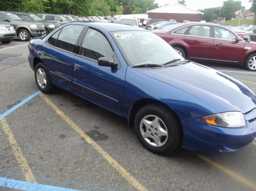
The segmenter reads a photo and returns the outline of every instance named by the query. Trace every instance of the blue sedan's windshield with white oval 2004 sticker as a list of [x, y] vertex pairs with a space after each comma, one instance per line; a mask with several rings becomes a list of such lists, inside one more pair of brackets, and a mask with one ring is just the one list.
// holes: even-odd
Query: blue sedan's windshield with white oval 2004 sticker
[[162, 66], [174, 59], [184, 61], [184, 58], [166, 41], [152, 32], [115, 31], [110, 33], [131, 67], [143, 64]]

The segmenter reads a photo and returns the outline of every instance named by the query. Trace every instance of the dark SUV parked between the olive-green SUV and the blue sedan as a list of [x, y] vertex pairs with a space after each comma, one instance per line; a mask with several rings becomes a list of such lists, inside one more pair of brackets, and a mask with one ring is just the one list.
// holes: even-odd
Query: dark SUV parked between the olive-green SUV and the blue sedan
[[41, 17], [38, 17], [34, 13], [23, 13], [23, 12], [12, 12], [13, 14], [18, 15], [22, 20], [31, 21], [31, 22], [40, 22], [44, 24], [45, 35], [52, 32], [54, 29], [60, 26], [60, 24], [52, 21], [45, 21]]

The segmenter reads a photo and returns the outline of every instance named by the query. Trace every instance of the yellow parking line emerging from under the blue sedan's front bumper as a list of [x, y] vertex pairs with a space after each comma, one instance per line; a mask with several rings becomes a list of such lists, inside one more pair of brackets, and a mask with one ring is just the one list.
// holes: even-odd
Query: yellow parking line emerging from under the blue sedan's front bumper
[[241, 177], [240, 175], [238, 175], [237, 173], [235, 173], [234, 171], [227, 169], [226, 167], [220, 165], [219, 163], [216, 163], [214, 161], [212, 161], [211, 159], [207, 158], [206, 156], [200, 155], [200, 154], [196, 154], [199, 158], [203, 159], [204, 161], [210, 163], [211, 165], [213, 165], [214, 167], [220, 169], [221, 171], [227, 173], [228, 175], [230, 175], [231, 177], [237, 179], [238, 181], [244, 183], [245, 185], [247, 185], [248, 187], [251, 187], [252, 189], [256, 190], [256, 184], [246, 180], [245, 178]]

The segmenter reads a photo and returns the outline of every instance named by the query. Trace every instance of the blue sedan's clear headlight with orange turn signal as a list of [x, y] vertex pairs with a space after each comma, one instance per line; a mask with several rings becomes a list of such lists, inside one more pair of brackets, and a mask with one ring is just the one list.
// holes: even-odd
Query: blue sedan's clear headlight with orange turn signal
[[239, 111], [217, 113], [205, 116], [204, 119], [210, 125], [220, 127], [242, 127], [245, 126], [244, 116]]

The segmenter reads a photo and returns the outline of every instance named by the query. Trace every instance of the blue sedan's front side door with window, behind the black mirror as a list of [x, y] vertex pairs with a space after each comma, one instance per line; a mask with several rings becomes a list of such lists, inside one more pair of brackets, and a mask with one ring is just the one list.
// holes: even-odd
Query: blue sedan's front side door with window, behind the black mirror
[[76, 94], [122, 114], [127, 65], [115, 69], [98, 65], [100, 57], [112, 57], [120, 64], [113, 47], [103, 33], [89, 28], [80, 54], [74, 57], [73, 84]]

